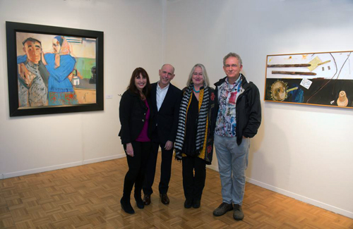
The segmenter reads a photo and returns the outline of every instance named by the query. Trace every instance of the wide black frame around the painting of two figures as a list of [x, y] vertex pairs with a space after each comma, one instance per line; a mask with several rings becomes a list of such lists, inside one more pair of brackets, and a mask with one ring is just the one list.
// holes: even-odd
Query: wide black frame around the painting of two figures
[[[33, 108], [20, 108], [18, 95], [18, 63], [16, 32], [26, 32], [40, 35], [55, 35], [68, 37], [82, 37], [95, 39], [95, 103], [75, 104], [68, 106], [35, 106]], [[83, 111], [104, 110], [104, 32], [93, 30], [80, 30], [68, 27], [54, 27], [48, 25], [35, 25], [28, 23], [15, 23], [6, 21], [6, 47], [8, 67], [8, 100], [9, 116], [33, 116], [52, 113], [71, 113]], [[50, 77], [50, 75], [49, 75]]]

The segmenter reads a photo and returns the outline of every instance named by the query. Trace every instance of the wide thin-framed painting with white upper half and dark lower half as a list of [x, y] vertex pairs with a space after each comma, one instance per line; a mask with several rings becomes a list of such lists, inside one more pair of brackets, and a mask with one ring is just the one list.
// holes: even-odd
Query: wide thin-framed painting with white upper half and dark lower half
[[351, 54], [341, 51], [267, 56], [265, 101], [352, 109]]

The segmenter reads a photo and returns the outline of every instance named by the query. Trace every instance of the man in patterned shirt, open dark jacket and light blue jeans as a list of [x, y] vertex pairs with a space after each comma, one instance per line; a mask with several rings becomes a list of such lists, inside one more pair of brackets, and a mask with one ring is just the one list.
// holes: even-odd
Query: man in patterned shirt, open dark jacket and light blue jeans
[[238, 54], [229, 53], [223, 58], [227, 75], [215, 83], [217, 95], [217, 120], [215, 149], [222, 184], [222, 204], [213, 211], [214, 216], [233, 212], [241, 221], [245, 190], [245, 170], [248, 166], [250, 138], [261, 124], [261, 102], [258, 87], [247, 82]]

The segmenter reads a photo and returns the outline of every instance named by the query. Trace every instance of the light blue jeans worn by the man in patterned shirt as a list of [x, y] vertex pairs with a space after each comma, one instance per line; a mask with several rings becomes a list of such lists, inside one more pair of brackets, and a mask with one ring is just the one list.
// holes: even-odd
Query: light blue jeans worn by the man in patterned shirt
[[215, 134], [215, 149], [222, 184], [222, 199], [227, 204], [241, 205], [243, 203], [249, 147], [249, 138], [243, 138], [238, 146], [237, 137], [222, 137]]

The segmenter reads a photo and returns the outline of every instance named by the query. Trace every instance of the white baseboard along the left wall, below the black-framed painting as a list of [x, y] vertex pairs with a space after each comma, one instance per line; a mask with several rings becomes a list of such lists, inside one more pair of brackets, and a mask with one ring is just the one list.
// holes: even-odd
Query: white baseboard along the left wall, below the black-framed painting
[[0, 180], [1, 179], [6, 179], [6, 178], [14, 178], [14, 177], [18, 177], [20, 175], [29, 175], [29, 174], [33, 174], [33, 173], [42, 173], [42, 172], [47, 172], [47, 171], [54, 171], [57, 169], [61, 169], [61, 168], [70, 168], [70, 167], [75, 167], [75, 166], [82, 166], [82, 165], [86, 165], [88, 163], [97, 163], [97, 162], [101, 162], [101, 161], [109, 161], [109, 160], [113, 160], [113, 159], [120, 159], [122, 157], [125, 157], [125, 154], [116, 154], [114, 156], [104, 156], [104, 157], [100, 157], [97, 159], [88, 159], [88, 160], [83, 160], [83, 161], [76, 161], [76, 162], [71, 162], [71, 163], [64, 163], [61, 165], [56, 165], [56, 166], [47, 166], [47, 167], [42, 167], [42, 168], [32, 168], [32, 169], [28, 169], [25, 171], [17, 171], [17, 172], [13, 172], [13, 173], [3, 173], [0, 176]]

